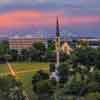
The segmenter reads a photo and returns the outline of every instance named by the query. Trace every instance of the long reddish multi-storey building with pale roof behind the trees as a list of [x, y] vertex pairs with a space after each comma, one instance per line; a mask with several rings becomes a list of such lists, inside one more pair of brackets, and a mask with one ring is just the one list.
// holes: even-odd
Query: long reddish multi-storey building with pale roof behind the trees
[[44, 41], [44, 39], [40, 37], [33, 38], [32, 36], [30, 37], [29, 36], [25, 36], [25, 37], [15, 36], [15, 37], [9, 38], [8, 41], [9, 41], [10, 49], [21, 50], [21, 49], [30, 48], [32, 47], [33, 43]]

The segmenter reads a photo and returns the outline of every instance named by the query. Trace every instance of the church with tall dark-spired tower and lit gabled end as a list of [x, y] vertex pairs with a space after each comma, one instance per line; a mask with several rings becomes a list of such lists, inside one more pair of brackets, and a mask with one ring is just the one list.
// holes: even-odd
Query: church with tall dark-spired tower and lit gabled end
[[72, 49], [70, 48], [69, 44], [66, 42], [63, 43], [61, 47], [61, 36], [60, 36], [60, 31], [59, 31], [59, 20], [57, 17], [57, 22], [56, 22], [56, 39], [55, 39], [55, 47], [56, 47], [56, 63], [55, 63], [55, 70], [51, 72], [50, 78], [55, 79], [56, 81], [59, 81], [59, 76], [58, 76], [58, 68], [60, 67], [60, 52], [61, 50], [66, 52], [67, 54], [70, 54]]

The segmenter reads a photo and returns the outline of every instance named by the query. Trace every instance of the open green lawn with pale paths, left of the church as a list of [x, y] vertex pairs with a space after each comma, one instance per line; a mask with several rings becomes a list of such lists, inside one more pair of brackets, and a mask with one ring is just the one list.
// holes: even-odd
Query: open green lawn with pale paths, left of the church
[[[23, 83], [23, 88], [27, 94], [32, 98], [32, 76], [40, 69], [48, 71], [48, 63], [11, 63], [13, 69], [17, 72], [17, 78]], [[8, 67], [6, 64], [0, 64], [0, 73], [8, 73]]]

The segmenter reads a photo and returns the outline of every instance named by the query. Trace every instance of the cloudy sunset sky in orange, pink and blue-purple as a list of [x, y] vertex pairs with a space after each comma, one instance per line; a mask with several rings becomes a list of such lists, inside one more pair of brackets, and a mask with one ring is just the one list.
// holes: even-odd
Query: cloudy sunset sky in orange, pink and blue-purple
[[56, 31], [100, 35], [100, 0], [0, 0], [0, 36]]

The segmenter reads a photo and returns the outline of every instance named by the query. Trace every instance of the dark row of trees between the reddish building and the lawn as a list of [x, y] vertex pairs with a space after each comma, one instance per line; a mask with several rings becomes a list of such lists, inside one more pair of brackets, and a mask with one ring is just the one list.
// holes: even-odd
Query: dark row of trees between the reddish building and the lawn
[[[61, 61], [65, 61], [67, 54], [61, 52]], [[56, 52], [55, 43], [48, 41], [48, 47], [42, 42], [36, 42], [31, 48], [27, 49], [10, 49], [7, 42], [0, 43], [0, 61], [37, 61], [37, 62], [55, 62]]]

